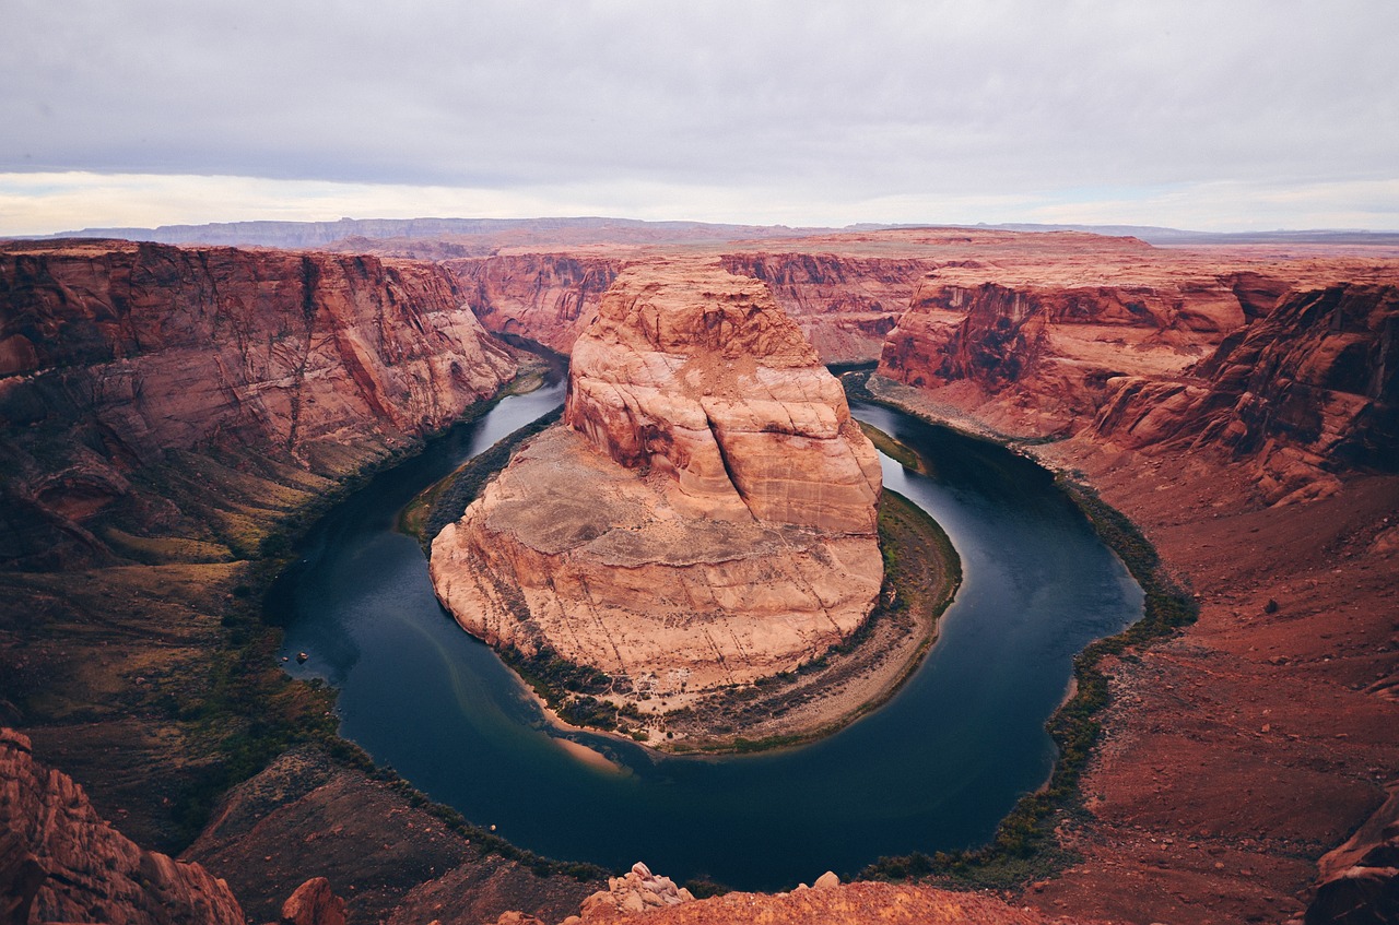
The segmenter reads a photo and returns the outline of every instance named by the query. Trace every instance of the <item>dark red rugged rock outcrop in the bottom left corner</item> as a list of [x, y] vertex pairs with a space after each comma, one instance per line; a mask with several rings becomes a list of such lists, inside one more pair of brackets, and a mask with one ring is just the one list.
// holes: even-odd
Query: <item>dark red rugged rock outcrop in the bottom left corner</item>
[[0, 831], [6, 921], [243, 922], [227, 883], [132, 844], [11, 729], [0, 729]]

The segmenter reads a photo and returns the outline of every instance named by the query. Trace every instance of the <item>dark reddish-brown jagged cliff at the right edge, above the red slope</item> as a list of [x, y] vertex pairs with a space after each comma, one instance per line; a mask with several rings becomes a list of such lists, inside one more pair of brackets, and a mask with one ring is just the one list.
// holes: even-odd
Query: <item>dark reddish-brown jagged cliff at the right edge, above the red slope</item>
[[1192, 377], [1122, 377], [1095, 437], [1249, 458], [1270, 500], [1335, 490], [1326, 471], [1399, 471], [1399, 288], [1288, 295]]

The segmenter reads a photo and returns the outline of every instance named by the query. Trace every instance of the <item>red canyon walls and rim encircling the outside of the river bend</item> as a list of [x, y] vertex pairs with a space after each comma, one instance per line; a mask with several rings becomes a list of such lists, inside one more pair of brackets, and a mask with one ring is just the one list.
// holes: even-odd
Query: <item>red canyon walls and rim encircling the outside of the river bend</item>
[[[574, 352], [634, 265], [701, 250], [769, 286], [823, 360], [879, 358], [874, 394], [1095, 489], [1199, 604], [1193, 626], [1109, 660], [1081, 812], [1058, 830], [1072, 859], [1007, 887], [1014, 908], [977, 897], [949, 921], [1283, 921], [1322, 869], [1322, 896], [1370, 884], [1382, 908], [1399, 777], [1392, 254], [981, 229], [532, 242], [442, 263], [400, 246], [0, 246], [0, 720], [139, 843], [193, 844], [186, 859], [260, 921], [318, 873], [364, 891], [353, 921], [416, 901], [442, 921], [557, 921], [602, 889], [597, 872], [537, 876], [325, 746], [269, 736], [278, 717], [323, 722], [327, 701], [280, 676], [248, 588], [288, 516], [512, 374], [488, 331]], [[215, 697], [232, 678], [267, 715]], [[256, 760], [234, 762], [238, 736]], [[221, 823], [200, 836], [211, 785]], [[404, 823], [392, 841], [385, 819]], [[397, 862], [369, 871], [383, 844]], [[466, 894], [491, 898], [452, 905]], [[649, 915], [856, 921], [930, 896], [858, 883]]]

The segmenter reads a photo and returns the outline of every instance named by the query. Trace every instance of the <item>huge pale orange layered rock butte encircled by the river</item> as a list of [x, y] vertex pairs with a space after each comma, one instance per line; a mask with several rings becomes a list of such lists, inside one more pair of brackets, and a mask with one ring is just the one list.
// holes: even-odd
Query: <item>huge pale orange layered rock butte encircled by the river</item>
[[565, 425], [432, 544], [469, 632], [698, 692], [852, 633], [883, 577], [880, 469], [754, 279], [625, 270], [574, 349]]

